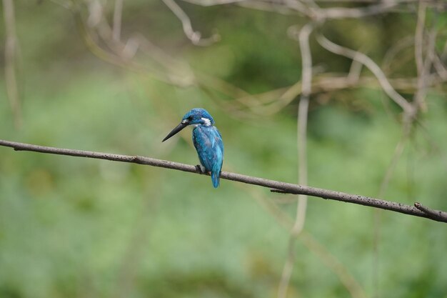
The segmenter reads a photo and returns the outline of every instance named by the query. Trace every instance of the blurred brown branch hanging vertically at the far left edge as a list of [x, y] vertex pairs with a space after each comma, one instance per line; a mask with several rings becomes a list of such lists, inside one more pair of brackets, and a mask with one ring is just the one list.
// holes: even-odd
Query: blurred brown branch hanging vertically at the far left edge
[[3, 14], [5, 19], [5, 80], [6, 93], [14, 116], [14, 125], [19, 128], [22, 123], [19, 89], [16, 77], [16, 19], [14, 13], [14, 1], [3, 0]]

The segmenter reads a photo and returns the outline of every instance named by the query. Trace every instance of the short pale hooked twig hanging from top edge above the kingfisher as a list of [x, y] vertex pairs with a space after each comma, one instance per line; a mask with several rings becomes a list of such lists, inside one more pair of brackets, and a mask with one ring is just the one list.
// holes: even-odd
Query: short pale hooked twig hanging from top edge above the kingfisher
[[213, 34], [211, 37], [204, 39], [201, 37], [201, 33], [199, 31], [194, 31], [191, 25], [191, 19], [189, 16], [181, 9], [179, 4], [176, 4], [174, 0], [162, 0], [166, 6], [171, 9], [171, 11], [179, 18], [181, 21], [181, 25], [183, 26], [183, 30], [188, 37], [189, 40], [196, 46], [209, 46], [216, 41], [219, 41], [219, 34]]

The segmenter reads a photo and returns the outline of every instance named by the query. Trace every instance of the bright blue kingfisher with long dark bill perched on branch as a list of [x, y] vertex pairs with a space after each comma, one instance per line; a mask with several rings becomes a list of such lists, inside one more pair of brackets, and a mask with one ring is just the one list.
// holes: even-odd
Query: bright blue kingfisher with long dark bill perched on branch
[[163, 139], [166, 141], [186, 126], [194, 125], [193, 143], [201, 165], [196, 168], [202, 173], [211, 172], [211, 181], [214, 188], [219, 187], [222, 163], [224, 162], [224, 142], [216, 126], [214, 119], [205, 109], [191, 109], [183, 116], [179, 125]]

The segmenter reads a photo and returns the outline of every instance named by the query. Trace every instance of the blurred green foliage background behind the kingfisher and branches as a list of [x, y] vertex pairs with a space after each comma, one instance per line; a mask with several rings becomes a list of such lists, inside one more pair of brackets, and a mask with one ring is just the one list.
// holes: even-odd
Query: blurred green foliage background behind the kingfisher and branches
[[[298, 44], [286, 37], [296, 22], [291, 16], [185, 4], [194, 26], [206, 34], [212, 24], [222, 36], [198, 49], [185, 41], [179, 21], [161, 2], [124, 5], [124, 34], [149, 32], [179, 59], [248, 91], [299, 79]], [[51, 1], [18, 1], [16, 10], [24, 126], [13, 127], [2, 77], [1, 139], [196, 164], [191, 131], [163, 144], [161, 139], [184, 111], [203, 106], [224, 137], [224, 170], [296, 182], [294, 103], [273, 116], [240, 119], [199, 89], [176, 88], [99, 61], [85, 48], [69, 11]], [[378, 39], [387, 31], [382, 21], [338, 21], [330, 32], [381, 55], [386, 47]], [[397, 27], [405, 20], [385, 21]], [[321, 49], [315, 53], [316, 62], [330, 69], [350, 66]], [[383, 105], [376, 90], [349, 91], [347, 101], [338, 100], [342, 96], [311, 102], [309, 184], [377, 196], [401, 137], [396, 108]], [[363, 108], [353, 109], [350, 99]], [[447, 210], [446, 119], [444, 96], [429, 94], [426, 126], [415, 127], [385, 199]], [[213, 189], [209, 177], [166, 169], [0, 151], [0, 298], [276, 295], [288, 230], [258, 197], [290, 197], [226, 180]], [[294, 217], [294, 204], [280, 206]], [[309, 198], [306, 219], [306, 232], [368, 297], [375, 212]], [[392, 212], [380, 217], [382, 297], [445, 297], [445, 224]], [[349, 295], [318, 250], [300, 240], [290, 294]]]

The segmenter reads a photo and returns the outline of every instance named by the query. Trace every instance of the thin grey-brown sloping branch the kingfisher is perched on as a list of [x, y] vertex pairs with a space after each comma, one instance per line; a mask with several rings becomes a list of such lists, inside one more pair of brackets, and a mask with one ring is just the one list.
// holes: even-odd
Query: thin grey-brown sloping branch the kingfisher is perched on
[[[6, 141], [0, 139], [0, 146], [14, 148], [15, 151], [30, 151], [49, 154], [68, 155], [71, 157], [88, 157], [93, 159], [106, 159], [115, 162], [129, 162], [134, 164], [145, 164], [152, 167], [161, 167], [166, 169], [176, 169], [183, 172], [190, 172], [201, 174], [197, 171], [195, 166], [190, 164], [181, 164], [179, 162], [170, 162], [161, 159], [154, 159], [151, 157], [129, 156], [121, 154], [110, 154], [104, 152], [91, 152], [76, 149], [64, 149], [49, 146], [38, 146], [33, 144], [19, 143], [16, 141]], [[386, 209], [393, 212], [413, 215], [415, 217], [425, 217], [436, 222], [447, 222], [447, 212], [439, 210], [431, 210], [431, 212], [423, 212], [420, 209], [401, 204], [397, 202], [386, 201], [383, 199], [374, 199], [371, 197], [364, 197], [358, 194], [346, 194], [344, 192], [336, 192], [329, 189], [319, 189], [316, 187], [305, 187], [298, 184], [291, 184], [286, 182], [279, 182], [275, 180], [263, 179], [258, 177], [251, 177], [242, 174], [231, 172], [221, 172], [221, 178], [246, 184], [258, 185], [260, 187], [267, 187], [268, 189], [278, 189], [283, 193], [288, 194], [306, 194], [311, 197], [321, 197], [323, 199], [333, 199], [340, 202], [348, 202], [359, 204], [378, 209]], [[428, 208], [426, 208], [428, 209]]]

